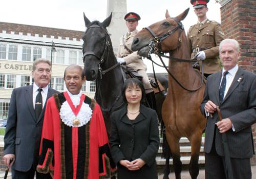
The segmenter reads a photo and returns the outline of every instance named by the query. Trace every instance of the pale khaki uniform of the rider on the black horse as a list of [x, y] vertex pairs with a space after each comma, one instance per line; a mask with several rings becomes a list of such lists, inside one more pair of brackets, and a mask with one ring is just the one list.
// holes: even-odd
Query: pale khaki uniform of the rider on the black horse
[[[137, 51], [131, 53], [129, 50], [125, 48], [123, 44], [124, 42], [126, 47], [131, 50], [133, 38], [137, 33], [138, 33], [138, 30], [135, 30], [129, 36], [127, 36], [127, 33], [126, 33], [119, 39], [119, 48], [117, 51], [117, 57], [123, 58], [126, 62], [126, 66], [138, 71], [138, 73], [143, 77], [142, 82], [143, 82], [144, 88], [151, 89], [150, 91], [153, 91], [152, 86], [150, 84], [150, 80], [148, 80], [148, 77], [146, 74], [146, 65], [143, 63], [141, 56], [137, 54]], [[146, 92], [148, 93], [150, 91], [147, 90]]]

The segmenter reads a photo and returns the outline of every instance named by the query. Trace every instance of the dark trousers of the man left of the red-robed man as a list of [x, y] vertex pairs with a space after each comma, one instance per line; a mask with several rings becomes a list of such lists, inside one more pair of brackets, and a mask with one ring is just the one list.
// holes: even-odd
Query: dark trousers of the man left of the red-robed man
[[31, 167], [29, 171], [17, 171], [12, 168], [12, 179], [33, 179], [36, 172], [36, 179], [52, 179], [51, 175], [42, 174], [35, 171], [34, 167]]

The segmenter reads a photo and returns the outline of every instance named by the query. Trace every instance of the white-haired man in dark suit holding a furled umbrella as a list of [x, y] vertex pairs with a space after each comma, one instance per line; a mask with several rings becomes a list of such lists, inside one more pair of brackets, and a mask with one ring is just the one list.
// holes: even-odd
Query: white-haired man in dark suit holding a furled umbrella
[[[226, 133], [234, 178], [251, 178], [250, 158], [254, 152], [251, 125], [256, 122], [256, 75], [238, 67], [239, 43], [220, 43], [222, 72], [206, 82], [201, 111], [208, 116], [205, 129], [206, 178], [226, 178], [221, 134]], [[218, 120], [219, 106], [222, 121]]]

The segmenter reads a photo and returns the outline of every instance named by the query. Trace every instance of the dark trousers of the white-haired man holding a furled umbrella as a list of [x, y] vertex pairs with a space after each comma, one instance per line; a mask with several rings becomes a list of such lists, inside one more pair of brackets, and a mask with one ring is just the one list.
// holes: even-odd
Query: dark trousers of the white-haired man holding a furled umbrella
[[[234, 179], [251, 179], [250, 159], [230, 158]], [[225, 158], [218, 155], [215, 149], [215, 138], [211, 151], [205, 153], [205, 178], [226, 179]]]

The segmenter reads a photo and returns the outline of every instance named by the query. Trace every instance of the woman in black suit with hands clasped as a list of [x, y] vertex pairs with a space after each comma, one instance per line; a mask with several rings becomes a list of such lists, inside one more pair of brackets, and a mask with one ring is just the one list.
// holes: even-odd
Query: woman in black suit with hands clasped
[[118, 166], [118, 179], [156, 179], [159, 133], [156, 111], [141, 104], [143, 84], [135, 78], [123, 86], [127, 105], [111, 115], [111, 154]]

